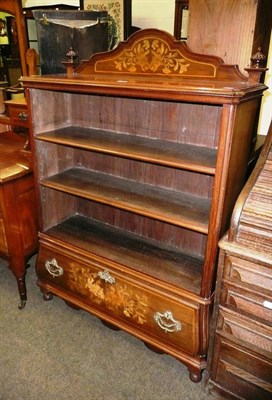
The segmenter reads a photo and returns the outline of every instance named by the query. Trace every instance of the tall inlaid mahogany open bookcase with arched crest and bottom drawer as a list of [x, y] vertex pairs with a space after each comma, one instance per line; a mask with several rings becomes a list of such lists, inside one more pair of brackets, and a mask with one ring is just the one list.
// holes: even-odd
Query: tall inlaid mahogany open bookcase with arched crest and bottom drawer
[[38, 284], [46, 300], [60, 296], [176, 357], [197, 382], [218, 240], [266, 87], [153, 29], [67, 75], [23, 79]]

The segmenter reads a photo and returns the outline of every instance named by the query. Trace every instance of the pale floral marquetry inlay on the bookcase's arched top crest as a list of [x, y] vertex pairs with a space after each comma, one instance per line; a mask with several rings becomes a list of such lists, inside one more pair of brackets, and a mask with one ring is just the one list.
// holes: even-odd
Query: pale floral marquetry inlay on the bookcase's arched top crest
[[163, 74], [173, 71], [182, 74], [190, 66], [178, 51], [171, 51], [169, 45], [160, 39], [140, 40], [131, 50], [124, 51], [114, 63], [119, 71]]

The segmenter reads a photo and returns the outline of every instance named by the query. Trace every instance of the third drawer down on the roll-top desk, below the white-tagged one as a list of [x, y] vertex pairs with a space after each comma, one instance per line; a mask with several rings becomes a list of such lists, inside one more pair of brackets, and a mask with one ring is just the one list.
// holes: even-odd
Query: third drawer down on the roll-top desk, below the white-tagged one
[[245, 316], [221, 309], [217, 331], [223, 331], [244, 342], [244, 345], [258, 348], [272, 359], [272, 326], [262, 324]]

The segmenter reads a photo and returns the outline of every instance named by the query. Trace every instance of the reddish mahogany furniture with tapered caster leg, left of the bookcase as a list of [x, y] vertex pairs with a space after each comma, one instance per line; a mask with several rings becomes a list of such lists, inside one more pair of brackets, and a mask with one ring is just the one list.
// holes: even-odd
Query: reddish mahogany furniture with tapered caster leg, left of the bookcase
[[27, 259], [37, 250], [37, 206], [26, 139], [8, 131], [0, 134], [0, 256], [9, 261], [18, 284], [19, 308], [27, 299]]

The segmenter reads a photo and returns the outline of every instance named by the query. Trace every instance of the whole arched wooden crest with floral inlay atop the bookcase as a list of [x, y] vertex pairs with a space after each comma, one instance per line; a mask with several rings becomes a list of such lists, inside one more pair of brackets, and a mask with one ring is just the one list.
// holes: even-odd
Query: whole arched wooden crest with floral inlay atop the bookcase
[[[158, 29], [140, 29], [113, 50], [93, 54], [89, 60], [82, 61], [75, 73], [78, 78], [90, 76], [97, 82], [103, 74], [103, 85], [109, 79], [111, 84], [114, 82], [118, 86], [135, 83], [134, 77], [140, 76], [154, 80], [165, 77], [164, 83], [170, 82], [169, 77], [177, 78], [179, 82], [192, 78], [220, 82], [247, 80], [236, 65], [225, 65], [216, 56], [196, 54], [186, 43]], [[149, 83], [158, 85], [157, 81], [152, 83], [151, 78]], [[144, 84], [146, 81], [142, 82]]]

